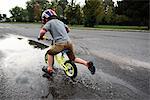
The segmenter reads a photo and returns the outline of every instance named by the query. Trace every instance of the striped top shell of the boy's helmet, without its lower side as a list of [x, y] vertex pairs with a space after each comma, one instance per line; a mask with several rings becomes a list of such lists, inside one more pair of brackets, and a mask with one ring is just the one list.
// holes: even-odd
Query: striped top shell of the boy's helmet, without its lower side
[[52, 9], [47, 9], [42, 13], [42, 19], [57, 16], [56, 12]]

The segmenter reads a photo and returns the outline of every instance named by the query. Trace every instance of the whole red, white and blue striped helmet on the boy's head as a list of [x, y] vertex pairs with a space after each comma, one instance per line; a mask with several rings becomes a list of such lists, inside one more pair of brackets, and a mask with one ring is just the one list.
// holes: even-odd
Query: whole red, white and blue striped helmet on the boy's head
[[56, 18], [57, 14], [52, 9], [47, 9], [42, 13], [42, 23], [45, 24], [47, 22], [46, 19]]

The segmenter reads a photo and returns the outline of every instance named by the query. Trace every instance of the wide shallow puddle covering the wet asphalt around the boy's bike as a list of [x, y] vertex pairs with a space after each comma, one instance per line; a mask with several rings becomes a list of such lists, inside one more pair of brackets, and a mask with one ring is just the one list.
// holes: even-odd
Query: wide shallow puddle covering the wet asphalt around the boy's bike
[[77, 56], [94, 61], [95, 75], [77, 64], [74, 82], [55, 64], [54, 78], [43, 78], [48, 45], [33, 37], [0, 34], [0, 100], [149, 100], [150, 68], [101, 58], [85, 47]]

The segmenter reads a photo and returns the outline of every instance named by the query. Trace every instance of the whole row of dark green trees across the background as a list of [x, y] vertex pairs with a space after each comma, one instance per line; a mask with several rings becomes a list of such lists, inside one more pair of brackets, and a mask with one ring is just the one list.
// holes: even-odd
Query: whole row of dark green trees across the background
[[[147, 25], [149, 24], [149, 0], [122, 0], [114, 6], [113, 0], [85, 0], [85, 5], [76, 0], [29, 0], [26, 9], [14, 7], [10, 10], [15, 21], [39, 22], [41, 14], [47, 8], [54, 8], [60, 20], [65, 23], [84, 24], [94, 27], [96, 24]], [[2, 16], [0, 16], [2, 19]]]

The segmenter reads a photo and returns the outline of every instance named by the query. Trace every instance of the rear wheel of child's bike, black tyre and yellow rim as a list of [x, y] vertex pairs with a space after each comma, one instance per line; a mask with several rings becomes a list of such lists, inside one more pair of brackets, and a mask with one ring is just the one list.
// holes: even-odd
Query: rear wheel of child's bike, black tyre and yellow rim
[[71, 79], [74, 79], [77, 76], [77, 67], [75, 63], [71, 60], [67, 60], [64, 65], [67, 67], [67, 69], [64, 71], [65, 74]]

